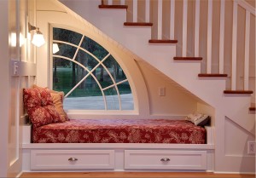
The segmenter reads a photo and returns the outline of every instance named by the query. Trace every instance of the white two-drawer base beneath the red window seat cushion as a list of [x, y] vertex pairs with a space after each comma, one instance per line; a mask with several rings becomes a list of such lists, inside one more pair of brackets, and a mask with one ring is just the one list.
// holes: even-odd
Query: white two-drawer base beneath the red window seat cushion
[[32, 143], [23, 145], [22, 165], [25, 172], [211, 172], [214, 171], [214, 155], [214, 145], [207, 144]]

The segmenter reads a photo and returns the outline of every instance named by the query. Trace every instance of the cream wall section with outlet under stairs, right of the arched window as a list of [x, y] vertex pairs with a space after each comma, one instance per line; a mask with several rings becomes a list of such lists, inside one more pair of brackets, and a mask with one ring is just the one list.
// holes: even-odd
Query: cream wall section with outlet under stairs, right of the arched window
[[[150, 114], [154, 116], [188, 115], [197, 110], [197, 102], [201, 101], [186, 89], [167, 78], [163, 73], [143, 61], [137, 62], [148, 89]], [[165, 95], [160, 96], [160, 88]]]

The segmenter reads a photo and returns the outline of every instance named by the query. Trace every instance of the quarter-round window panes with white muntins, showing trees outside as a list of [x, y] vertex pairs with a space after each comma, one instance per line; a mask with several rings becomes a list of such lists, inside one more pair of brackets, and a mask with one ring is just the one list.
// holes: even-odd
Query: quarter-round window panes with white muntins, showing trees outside
[[67, 110], [134, 110], [125, 72], [90, 37], [53, 28], [53, 89], [64, 91]]

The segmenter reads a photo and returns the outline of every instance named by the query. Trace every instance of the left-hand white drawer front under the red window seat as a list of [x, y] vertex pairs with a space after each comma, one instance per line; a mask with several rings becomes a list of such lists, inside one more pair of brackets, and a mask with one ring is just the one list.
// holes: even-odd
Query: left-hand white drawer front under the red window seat
[[32, 150], [31, 169], [113, 169], [113, 150]]

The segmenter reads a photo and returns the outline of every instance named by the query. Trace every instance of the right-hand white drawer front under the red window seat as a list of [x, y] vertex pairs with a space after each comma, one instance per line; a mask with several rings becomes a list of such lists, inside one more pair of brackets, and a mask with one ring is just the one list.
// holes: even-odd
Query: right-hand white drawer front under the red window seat
[[207, 151], [125, 150], [125, 169], [207, 169]]

